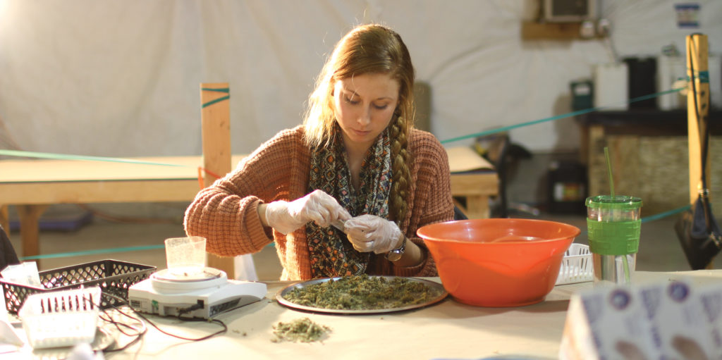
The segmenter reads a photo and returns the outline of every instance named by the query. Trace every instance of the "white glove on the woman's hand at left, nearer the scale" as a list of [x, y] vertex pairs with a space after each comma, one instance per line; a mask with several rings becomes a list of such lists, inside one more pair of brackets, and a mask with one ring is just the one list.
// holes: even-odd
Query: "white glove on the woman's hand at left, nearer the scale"
[[282, 234], [293, 232], [308, 221], [328, 227], [336, 219], [350, 218], [349, 212], [333, 196], [321, 190], [291, 202], [281, 200], [266, 204], [266, 222]]

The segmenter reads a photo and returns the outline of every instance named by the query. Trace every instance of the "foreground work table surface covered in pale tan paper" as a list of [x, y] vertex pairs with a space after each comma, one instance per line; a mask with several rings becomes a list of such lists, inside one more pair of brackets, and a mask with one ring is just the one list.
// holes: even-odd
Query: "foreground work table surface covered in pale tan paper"
[[[635, 283], [691, 279], [693, 284], [720, 284], [722, 270], [635, 273]], [[439, 281], [438, 278], [429, 278]], [[526, 307], [485, 308], [451, 298], [408, 312], [377, 315], [322, 315], [289, 309], [274, 301], [290, 281], [272, 281], [266, 299], [219, 315], [224, 335], [189, 342], [163, 335], [149, 326], [143, 341], [106, 359], [557, 359], [569, 299], [591, 289], [591, 282], [555, 286], [544, 302]], [[308, 317], [332, 329], [323, 343], [272, 343], [272, 326]], [[179, 322], [149, 317], [163, 330], [199, 338], [219, 329], [207, 322]], [[121, 344], [126, 339], [120, 338]], [[27, 348], [26, 348], [27, 351]], [[8, 359], [27, 359], [14, 353]]]

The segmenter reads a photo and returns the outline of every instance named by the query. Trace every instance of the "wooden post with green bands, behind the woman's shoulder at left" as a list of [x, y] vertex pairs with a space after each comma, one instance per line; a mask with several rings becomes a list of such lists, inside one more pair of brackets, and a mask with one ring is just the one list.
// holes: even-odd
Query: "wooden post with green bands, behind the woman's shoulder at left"
[[[201, 131], [203, 136], [204, 186], [216, 180], [212, 174], [224, 176], [230, 162], [230, 89], [228, 83], [201, 84]], [[208, 265], [235, 278], [233, 258], [207, 254]]]

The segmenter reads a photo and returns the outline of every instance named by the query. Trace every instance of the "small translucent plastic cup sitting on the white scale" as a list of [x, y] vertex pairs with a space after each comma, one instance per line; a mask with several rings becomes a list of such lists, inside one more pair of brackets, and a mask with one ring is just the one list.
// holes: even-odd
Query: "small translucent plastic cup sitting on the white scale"
[[206, 267], [206, 238], [172, 237], [165, 240], [168, 271], [175, 276], [192, 276]]

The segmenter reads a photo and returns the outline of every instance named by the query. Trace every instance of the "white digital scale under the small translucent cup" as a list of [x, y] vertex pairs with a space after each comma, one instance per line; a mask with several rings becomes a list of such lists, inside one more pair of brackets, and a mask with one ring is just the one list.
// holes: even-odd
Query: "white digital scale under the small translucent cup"
[[128, 289], [128, 302], [136, 311], [161, 316], [210, 319], [266, 296], [266, 284], [229, 280], [216, 268], [192, 273], [157, 271]]

